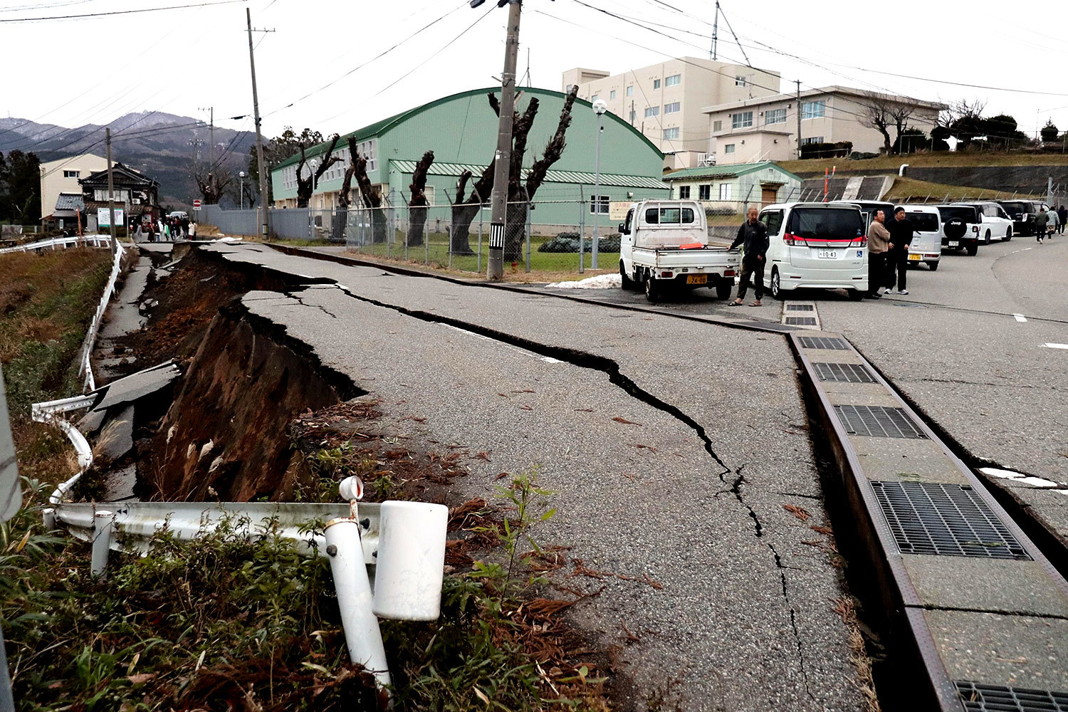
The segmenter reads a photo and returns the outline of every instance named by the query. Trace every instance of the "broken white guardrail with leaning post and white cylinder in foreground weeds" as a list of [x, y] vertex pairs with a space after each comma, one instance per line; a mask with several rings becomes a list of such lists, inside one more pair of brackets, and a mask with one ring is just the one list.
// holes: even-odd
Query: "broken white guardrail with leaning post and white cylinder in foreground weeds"
[[[110, 551], [144, 554], [164, 527], [174, 539], [191, 541], [223, 522], [249, 539], [269, 526], [294, 540], [300, 554], [329, 558], [349, 658], [384, 687], [390, 673], [377, 617], [438, 617], [449, 509], [422, 502], [357, 505], [362, 482], [348, 478], [343, 485], [349, 504], [59, 502], [45, 510], [45, 525], [63, 525], [93, 543], [94, 575], [105, 574]], [[309, 522], [324, 520], [323, 534], [308, 531]]]

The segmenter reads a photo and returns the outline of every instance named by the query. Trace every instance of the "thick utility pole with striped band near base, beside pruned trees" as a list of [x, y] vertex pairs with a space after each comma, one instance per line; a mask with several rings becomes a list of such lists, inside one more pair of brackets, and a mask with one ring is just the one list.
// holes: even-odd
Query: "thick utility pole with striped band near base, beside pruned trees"
[[486, 279], [492, 281], [500, 281], [504, 276], [504, 224], [508, 211], [508, 170], [512, 164], [512, 114], [516, 104], [520, 6], [519, 0], [508, 2], [508, 35], [504, 43], [504, 72], [501, 74], [501, 116], [497, 129], [497, 154], [493, 157], [496, 163], [489, 218], [489, 266], [486, 270]]

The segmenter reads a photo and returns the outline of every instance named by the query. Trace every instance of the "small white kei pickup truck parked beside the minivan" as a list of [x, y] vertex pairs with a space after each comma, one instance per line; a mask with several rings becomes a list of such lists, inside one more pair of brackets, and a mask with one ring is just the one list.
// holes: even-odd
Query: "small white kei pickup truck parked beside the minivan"
[[716, 289], [731, 297], [738, 252], [710, 244], [705, 208], [695, 201], [634, 203], [619, 224], [619, 275], [624, 289], [644, 285], [650, 302], [672, 288]]

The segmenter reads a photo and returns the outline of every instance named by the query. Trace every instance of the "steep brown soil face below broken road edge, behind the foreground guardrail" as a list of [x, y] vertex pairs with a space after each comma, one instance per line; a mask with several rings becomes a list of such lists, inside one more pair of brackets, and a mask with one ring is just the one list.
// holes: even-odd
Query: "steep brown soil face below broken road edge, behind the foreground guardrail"
[[293, 496], [298, 463], [289, 422], [360, 391], [324, 375], [314, 359], [269, 331], [237, 300], [211, 320], [153, 439], [147, 485], [154, 496], [232, 502]]

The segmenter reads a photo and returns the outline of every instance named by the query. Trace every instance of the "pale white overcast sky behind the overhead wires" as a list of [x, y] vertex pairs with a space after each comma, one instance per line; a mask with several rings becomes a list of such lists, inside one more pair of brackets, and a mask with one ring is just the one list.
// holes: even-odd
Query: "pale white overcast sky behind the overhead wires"
[[[0, 20], [192, 1], [0, 0]], [[578, 0], [527, 0], [519, 64], [525, 73], [529, 51], [534, 85], [559, 90], [561, 73], [575, 66], [615, 74], [670, 57], [709, 56], [712, 2], [582, 1], [663, 34]], [[453, 0], [252, 0], [248, 6], [253, 27], [276, 30], [254, 35], [268, 137], [286, 125], [311, 126], [324, 135], [350, 131], [440, 96], [487, 86], [493, 75], [500, 76], [507, 9], [497, 9], [493, 0], [478, 10]], [[251, 118], [226, 118], [252, 113], [245, 7], [238, 2], [2, 21], [6, 106], [0, 110], [76, 126], [146, 110], [206, 117], [199, 109], [214, 106], [217, 124], [251, 129]], [[843, 84], [943, 101], [978, 98], [986, 101], [988, 114], [1009, 113], [1030, 135], [1048, 117], [1068, 129], [1066, 2], [723, 0], [722, 7], [753, 66], [780, 72], [785, 91], [800, 79], [803, 88]], [[719, 49], [720, 59], [742, 60], [722, 19]]]

